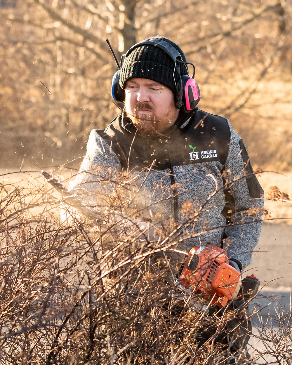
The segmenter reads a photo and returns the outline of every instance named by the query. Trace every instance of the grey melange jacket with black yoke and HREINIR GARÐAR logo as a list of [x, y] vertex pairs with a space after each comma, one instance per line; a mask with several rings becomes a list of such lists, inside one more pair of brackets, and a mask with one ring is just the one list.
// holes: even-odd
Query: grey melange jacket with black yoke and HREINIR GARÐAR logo
[[228, 120], [190, 115], [155, 137], [139, 135], [123, 115], [92, 130], [71, 189], [89, 192], [93, 206], [118, 196], [119, 208], [139, 222], [181, 225], [186, 252], [211, 243], [245, 268], [261, 231], [262, 188]]

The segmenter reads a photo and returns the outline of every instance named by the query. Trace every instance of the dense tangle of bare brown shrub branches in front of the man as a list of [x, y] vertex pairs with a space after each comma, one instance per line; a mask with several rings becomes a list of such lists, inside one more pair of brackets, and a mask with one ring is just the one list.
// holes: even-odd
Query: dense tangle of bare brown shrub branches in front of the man
[[[228, 362], [221, 344], [233, 312], [198, 314], [170, 297], [151, 265], [155, 247], [135, 245], [135, 229], [113, 235], [105, 222], [61, 223], [59, 202], [47, 186], [1, 183], [1, 364]], [[101, 249], [109, 237], [111, 248]], [[202, 328], [210, 341], [196, 340]], [[280, 353], [287, 331], [264, 328], [261, 340], [277, 338]], [[248, 364], [243, 352], [236, 361]]]

